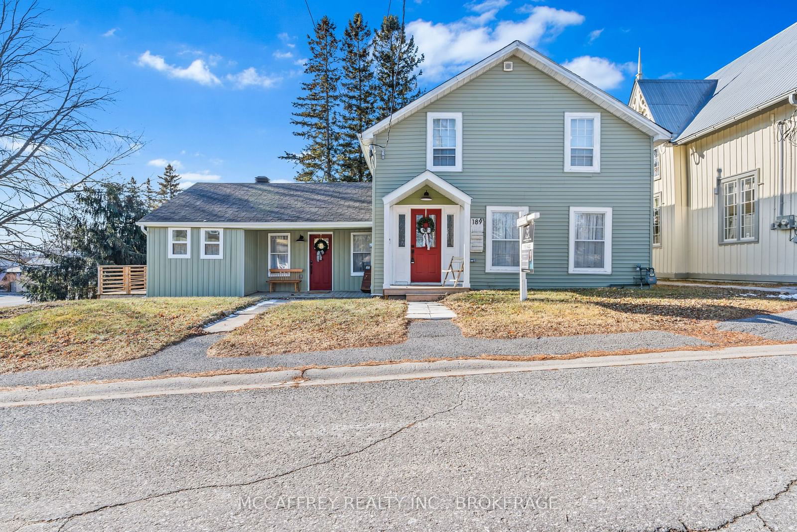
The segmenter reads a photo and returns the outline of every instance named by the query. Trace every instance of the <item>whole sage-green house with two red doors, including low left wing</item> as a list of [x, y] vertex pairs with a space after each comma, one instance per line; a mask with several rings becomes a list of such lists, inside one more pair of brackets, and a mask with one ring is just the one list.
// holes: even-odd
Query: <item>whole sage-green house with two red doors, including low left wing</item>
[[[630, 284], [650, 266], [652, 149], [670, 133], [520, 41], [363, 132], [373, 183], [198, 183], [139, 221], [147, 294]], [[319, 244], [323, 241], [324, 243]], [[320, 249], [324, 248], [324, 249]], [[277, 283], [274, 290], [292, 290]]]

